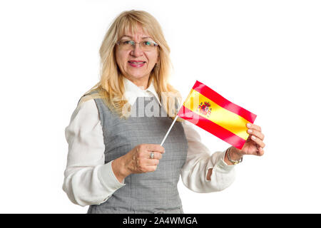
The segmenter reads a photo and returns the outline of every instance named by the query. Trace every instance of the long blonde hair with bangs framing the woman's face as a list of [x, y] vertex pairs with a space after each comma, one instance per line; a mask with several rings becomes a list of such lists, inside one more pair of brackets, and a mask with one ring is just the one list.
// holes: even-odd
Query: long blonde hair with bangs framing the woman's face
[[[153, 78], [156, 93], [158, 93], [161, 99], [164, 110], [170, 118], [174, 119], [178, 110], [173, 105], [175, 103], [173, 98], [180, 105], [181, 95], [178, 90], [175, 90], [168, 83], [173, 68], [170, 61], [170, 48], [163, 36], [161, 25], [146, 11], [123, 11], [113, 21], [99, 49], [101, 56], [101, 79], [83, 95], [81, 102], [92, 98], [102, 98], [107, 107], [114, 113], [117, 113], [120, 118], [128, 117], [128, 108], [125, 108], [126, 111], [124, 112], [124, 105], [128, 106], [128, 101], [123, 98], [123, 93], [125, 92], [123, 75], [116, 63], [115, 44], [124, 35], [126, 29], [131, 29], [131, 32], [135, 33], [138, 26], [141, 26], [143, 31], [148, 33], [159, 45], [159, 61], [151, 71], [148, 86], [150, 86]], [[93, 90], [98, 91], [98, 93], [88, 95]], [[183, 119], [178, 118], [178, 121], [183, 121]]]

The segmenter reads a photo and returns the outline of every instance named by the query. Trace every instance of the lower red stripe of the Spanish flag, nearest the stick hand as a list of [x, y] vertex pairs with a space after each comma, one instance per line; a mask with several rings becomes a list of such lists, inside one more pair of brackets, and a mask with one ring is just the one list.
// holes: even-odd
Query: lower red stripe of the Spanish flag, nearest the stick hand
[[180, 118], [183, 118], [184, 120], [188, 120], [190, 123], [198, 125], [198, 127], [207, 130], [209, 133], [215, 135], [221, 140], [224, 140], [225, 142], [230, 143], [230, 145], [233, 145], [234, 147], [240, 150], [243, 148], [243, 145], [246, 142], [246, 140], [238, 137], [238, 135], [235, 135], [234, 133], [231, 133], [229, 130], [222, 128], [220, 125], [217, 125], [216, 123], [206, 118], [203, 118], [203, 116], [194, 113], [190, 109], [186, 108], [184, 105], [182, 106], [182, 108], [180, 108], [178, 116]]

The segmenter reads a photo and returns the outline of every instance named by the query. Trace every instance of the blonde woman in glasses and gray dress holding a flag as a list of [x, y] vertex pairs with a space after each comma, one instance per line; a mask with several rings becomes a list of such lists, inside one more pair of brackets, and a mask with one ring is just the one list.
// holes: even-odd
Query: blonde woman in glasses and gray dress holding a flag
[[90, 205], [88, 213], [183, 213], [180, 175], [190, 190], [220, 191], [232, 184], [243, 155], [263, 155], [257, 125], [248, 127], [242, 150], [211, 154], [194, 126], [178, 118], [160, 145], [181, 101], [168, 83], [169, 53], [161, 26], [145, 11], [124, 11], [108, 29], [101, 81], [66, 128], [63, 190], [71, 202]]

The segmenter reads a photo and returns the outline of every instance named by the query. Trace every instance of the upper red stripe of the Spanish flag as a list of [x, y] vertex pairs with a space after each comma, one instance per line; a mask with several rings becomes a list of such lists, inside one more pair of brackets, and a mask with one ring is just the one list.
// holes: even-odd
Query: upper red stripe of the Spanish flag
[[203, 83], [196, 81], [195, 85], [193, 86], [193, 89], [198, 91], [198, 93], [202, 93], [203, 95], [205, 95], [206, 98], [213, 100], [215, 103], [220, 105], [220, 107], [242, 116], [243, 118], [245, 118], [245, 120], [248, 120], [250, 123], [254, 123], [254, 120], [256, 118], [255, 114], [249, 112], [245, 108], [235, 105], [235, 103], [232, 103], [229, 100], [226, 100], [225, 98], [223, 98], [223, 96], [216, 93], [208, 86], [205, 86]]

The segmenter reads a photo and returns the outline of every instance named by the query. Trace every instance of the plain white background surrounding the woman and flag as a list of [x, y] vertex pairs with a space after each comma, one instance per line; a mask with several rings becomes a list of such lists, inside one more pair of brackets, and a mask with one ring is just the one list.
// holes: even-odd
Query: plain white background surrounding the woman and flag
[[[265, 155], [245, 156], [223, 192], [179, 182], [184, 212], [320, 213], [321, 4], [308, 0], [1, 1], [0, 212], [86, 213], [61, 188], [64, 128], [98, 82], [108, 26], [130, 9], [160, 22], [184, 98], [205, 83], [266, 135]], [[198, 131], [213, 152], [229, 146]]]

